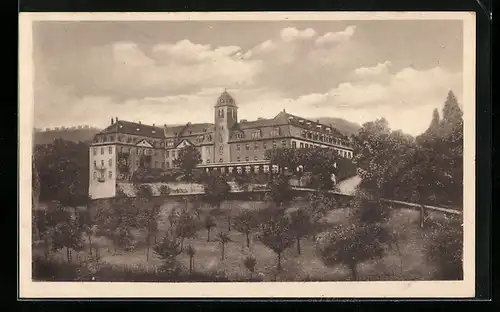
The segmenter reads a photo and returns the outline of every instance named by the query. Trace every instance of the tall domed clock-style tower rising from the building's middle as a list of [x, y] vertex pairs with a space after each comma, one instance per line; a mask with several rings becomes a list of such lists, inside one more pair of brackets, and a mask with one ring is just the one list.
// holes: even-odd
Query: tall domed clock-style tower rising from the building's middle
[[215, 162], [230, 162], [231, 152], [229, 149], [230, 130], [238, 122], [238, 107], [231, 95], [226, 90], [217, 99], [214, 107], [215, 125]]

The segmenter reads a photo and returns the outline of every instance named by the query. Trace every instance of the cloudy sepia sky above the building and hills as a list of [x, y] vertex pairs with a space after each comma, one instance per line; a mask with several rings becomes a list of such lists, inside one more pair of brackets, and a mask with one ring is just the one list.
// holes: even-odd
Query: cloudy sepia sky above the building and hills
[[212, 122], [227, 89], [240, 119], [285, 109], [418, 135], [462, 99], [462, 22], [127, 21], [33, 24], [37, 128]]

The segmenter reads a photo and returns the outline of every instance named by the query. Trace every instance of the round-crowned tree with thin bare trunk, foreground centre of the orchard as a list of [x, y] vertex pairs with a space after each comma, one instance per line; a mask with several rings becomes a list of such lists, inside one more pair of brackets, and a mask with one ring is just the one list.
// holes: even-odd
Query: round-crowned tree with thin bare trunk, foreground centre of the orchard
[[276, 215], [264, 224], [260, 237], [261, 242], [276, 254], [278, 273], [281, 271], [281, 255], [294, 242], [290, 225], [286, 215]]

